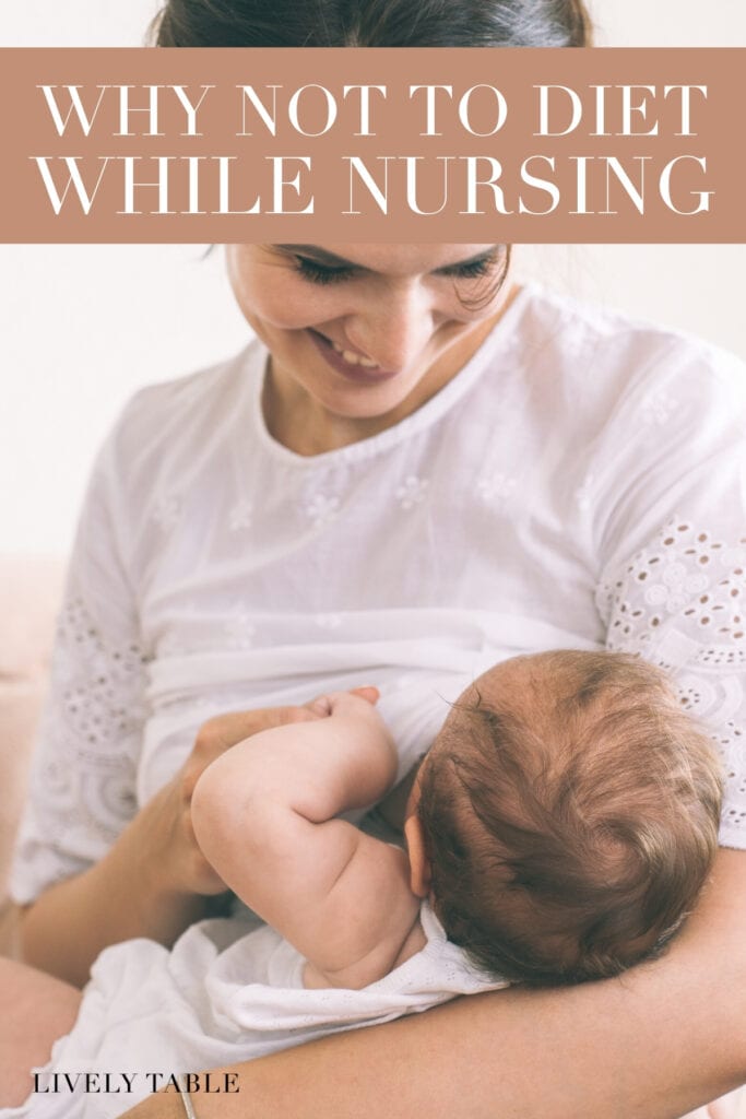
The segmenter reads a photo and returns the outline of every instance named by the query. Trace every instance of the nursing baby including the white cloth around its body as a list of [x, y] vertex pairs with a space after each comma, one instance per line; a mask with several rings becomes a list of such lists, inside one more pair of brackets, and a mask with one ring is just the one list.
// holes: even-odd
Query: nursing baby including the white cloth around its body
[[[696, 904], [718, 767], [654, 668], [548, 652], [485, 673], [419, 767], [407, 854], [339, 818], [396, 773], [376, 698], [327, 696], [315, 721], [255, 734], [205, 770], [197, 839], [267, 924], [237, 914], [171, 949], [107, 948], [47, 1082], [119, 1083], [126, 1069], [135, 1103], [173, 1073], [240, 1068], [459, 995], [615, 975]], [[40, 1098], [58, 1119], [114, 1119], [119, 1090]]]

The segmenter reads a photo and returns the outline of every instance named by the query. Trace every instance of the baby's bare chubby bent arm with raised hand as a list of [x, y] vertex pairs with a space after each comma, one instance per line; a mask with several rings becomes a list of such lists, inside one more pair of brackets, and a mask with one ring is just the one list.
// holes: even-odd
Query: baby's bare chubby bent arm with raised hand
[[405, 942], [407, 955], [424, 943], [419, 902], [402, 850], [334, 819], [389, 788], [390, 735], [367, 699], [324, 702], [328, 717], [264, 731], [213, 762], [192, 822], [224, 882], [310, 961], [310, 985], [365, 987]]

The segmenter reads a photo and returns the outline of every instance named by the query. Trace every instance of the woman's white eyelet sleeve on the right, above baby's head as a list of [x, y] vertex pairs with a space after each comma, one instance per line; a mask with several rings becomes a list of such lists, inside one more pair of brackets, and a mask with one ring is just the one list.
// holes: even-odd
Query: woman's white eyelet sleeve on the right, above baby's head
[[746, 848], [746, 369], [674, 352], [633, 392], [597, 603], [607, 647], [673, 676], [724, 762], [720, 840]]

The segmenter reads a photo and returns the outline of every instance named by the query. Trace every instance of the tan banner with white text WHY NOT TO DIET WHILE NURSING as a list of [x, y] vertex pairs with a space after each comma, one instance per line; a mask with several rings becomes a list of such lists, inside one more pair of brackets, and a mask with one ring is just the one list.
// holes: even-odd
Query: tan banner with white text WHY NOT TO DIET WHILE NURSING
[[746, 49], [3, 49], [3, 242], [744, 242]]

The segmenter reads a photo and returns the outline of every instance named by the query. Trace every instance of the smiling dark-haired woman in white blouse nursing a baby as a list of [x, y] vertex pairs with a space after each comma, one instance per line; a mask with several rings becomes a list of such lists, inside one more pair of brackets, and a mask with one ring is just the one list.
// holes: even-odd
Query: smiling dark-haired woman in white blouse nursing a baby
[[[440, 20], [418, 4], [414, 31], [410, 7], [334, 22], [314, 6], [315, 43], [584, 41], [574, 3], [448, 4]], [[235, 41], [235, 9], [220, 27], [215, 3], [169, 4], [160, 41]], [[267, 35], [309, 41], [272, 11]], [[368, 683], [376, 666], [414, 759], [433, 693], [482, 656], [641, 651], [721, 739], [724, 839], [746, 846], [743, 369], [517, 291], [508, 260], [495, 245], [233, 246], [266, 350], [141, 394], [108, 441], [16, 877], [27, 959], [67, 982], [3, 969], [19, 1008], [8, 1076], [69, 1028], [68, 984], [102, 948], [171, 943], [209, 910], [221, 883], [193, 844], [195, 780], [254, 730], [309, 717], [298, 704], [317, 683]], [[259, 704], [207, 723], [190, 752], [207, 714]], [[669, 955], [623, 982], [500, 993], [280, 1054], [242, 1068], [239, 1094], [200, 1096], [198, 1115], [681, 1115], [746, 1080], [745, 861], [721, 852]], [[164, 1094], [132, 1113], [182, 1110]]]

